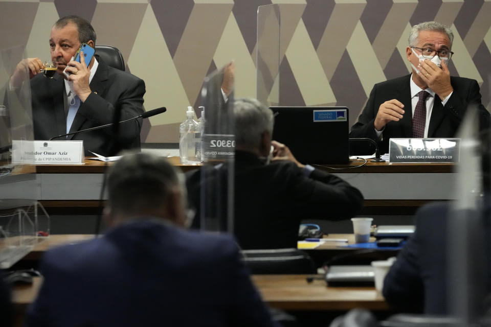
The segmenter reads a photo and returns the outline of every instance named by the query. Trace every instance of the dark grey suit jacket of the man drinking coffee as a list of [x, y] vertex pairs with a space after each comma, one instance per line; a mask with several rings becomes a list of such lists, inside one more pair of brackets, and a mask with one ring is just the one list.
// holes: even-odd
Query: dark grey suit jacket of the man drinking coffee
[[[82, 103], [75, 115], [70, 132], [113, 122], [115, 106], [121, 106], [121, 120], [143, 113], [145, 83], [136, 76], [110, 67], [100, 59], [90, 84], [92, 94]], [[50, 139], [66, 133], [63, 105], [65, 86], [63, 78], [55, 74], [47, 79], [38, 74], [31, 80], [34, 139]], [[119, 147], [111, 151], [111, 127], [68, 136], [69, 140], [83, 140], [86, 155], [93, 151], [101, 155], [114, 155], [120, 149], [140, 148], [141, 120], [122, 124], [119, 128]]]

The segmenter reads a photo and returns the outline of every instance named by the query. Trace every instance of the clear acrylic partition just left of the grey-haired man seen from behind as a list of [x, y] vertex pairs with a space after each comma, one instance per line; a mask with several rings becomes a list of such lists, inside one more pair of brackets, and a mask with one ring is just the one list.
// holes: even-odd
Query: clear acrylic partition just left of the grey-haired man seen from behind
[[[221, 68], [205, 78], [202, 90], [204, 128], [202, 133], [201, 190], [199, 225], [210, 231], [234, 230], [234, 121], [233, 85], [229, 95], [222, 94], [224, 76]], [[230, 80], [227, 77], [225, 80]], [[232, 79], [233, 80], [233, 79]]]

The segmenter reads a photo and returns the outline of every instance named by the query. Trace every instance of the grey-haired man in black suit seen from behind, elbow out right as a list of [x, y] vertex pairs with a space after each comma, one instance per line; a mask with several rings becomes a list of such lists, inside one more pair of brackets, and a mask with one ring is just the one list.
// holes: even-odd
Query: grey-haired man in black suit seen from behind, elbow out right
[[[239, 99], [233, 112], [234, 234], [243, 249], [296, 247], [302, 219], [341, 220], [359, 213], [363, 195], [358, 189], [301, 164], [287, 146], [272, 141], [272, 110], [255, 99]], [[198, 214], [203, 185], [216, 185], [226, 180], [227, 173], [226, 166], [217, 165], [187, 174], [188, 198]], [[207, 201], [217, 203], [215, 197], [224, 201], [227, 188], [222, 186], [220, 191], [210, 188]], [[199, 217], [193, 223], [206, 227], [199, 226]]]

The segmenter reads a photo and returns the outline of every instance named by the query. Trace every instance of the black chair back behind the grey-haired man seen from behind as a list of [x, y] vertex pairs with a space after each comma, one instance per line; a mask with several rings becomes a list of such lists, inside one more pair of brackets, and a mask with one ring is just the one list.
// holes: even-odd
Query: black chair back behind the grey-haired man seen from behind
[[252, 274], [313, 274], [316, 265], [298, 249], [242, 250], [243, 261]]

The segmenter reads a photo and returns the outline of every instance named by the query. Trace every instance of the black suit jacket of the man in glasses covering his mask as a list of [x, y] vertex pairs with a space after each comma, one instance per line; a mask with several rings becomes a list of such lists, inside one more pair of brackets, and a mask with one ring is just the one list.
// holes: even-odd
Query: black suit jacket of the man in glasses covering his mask
[[[369, 137], [378, 143], [381, 153], [389, 152], [389, 138], [412, 137], [412, 113], [411, 113], [411, 75], [399, 77], [393, 80], [375, 84], [365, 109], [352, 127], [349, 137]], [[457, 129], [462, 121], [467, 108], [479, 111], [480, 129], [489, 127], [489, 112], [481, 104], [479, 85], [475, 80], [451, 77], [450, 82], [454, 92], [445, 106], [442, 106], [440, 98], [435, 95], [435, 102], [430, 118], [428, 137], [455, 137]], [[388, 100], [397, 99], [404, 104], [406, 113], [398, 122], [389, 122], [383, 131], [383, 141], [378, 141], [373, 125], [378, 112], [378, 107]], [[374, 148], [360, 147], [358, 144], [350, 145], [351, 154], [370, 154]], [[355, 153], [356, 152], [356, 153]]]

